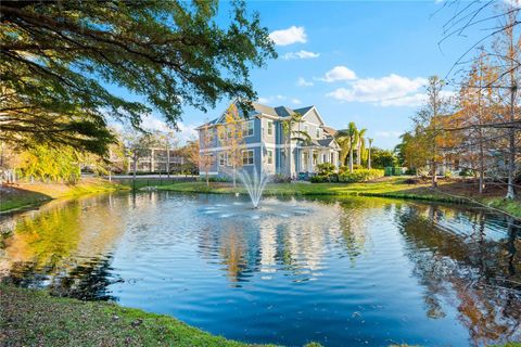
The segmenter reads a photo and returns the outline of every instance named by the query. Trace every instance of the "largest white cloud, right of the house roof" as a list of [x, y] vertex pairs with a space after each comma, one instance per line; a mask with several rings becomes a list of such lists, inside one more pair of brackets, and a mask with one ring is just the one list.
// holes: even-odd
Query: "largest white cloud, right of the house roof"
[[409, 79], [395, 74], [355, 80], [350, 88], [338, 88], [327, 97], [347, 102], [370, 102], [381, 106], [417, 106], [424, 101], [418, 92], [427, 79]]

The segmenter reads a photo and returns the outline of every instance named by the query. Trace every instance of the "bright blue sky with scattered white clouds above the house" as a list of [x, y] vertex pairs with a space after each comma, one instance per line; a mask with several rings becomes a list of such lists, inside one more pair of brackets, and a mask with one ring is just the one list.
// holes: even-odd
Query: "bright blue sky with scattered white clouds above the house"
[[[316, 105], [334, 128], [355, 121], [380, 147], [392, 149], [410, 127], [431, 75], [445, 77], [474, 37], [453, 37], [439, 47], [455, 9], [436, 1], [256, 1], [272, 33], [279, 59], [252, 72], [259, 101], [271, 106]], [[225, 21], [229, 3], [220, 4]], [[436, 13], [437, 12], [437, 13]], [[275, 31], [275, 33], [274, 33]], [[185, 111], [181, 138], [220, 114]], [[158, 125], [161, 116], [147, 123]]]

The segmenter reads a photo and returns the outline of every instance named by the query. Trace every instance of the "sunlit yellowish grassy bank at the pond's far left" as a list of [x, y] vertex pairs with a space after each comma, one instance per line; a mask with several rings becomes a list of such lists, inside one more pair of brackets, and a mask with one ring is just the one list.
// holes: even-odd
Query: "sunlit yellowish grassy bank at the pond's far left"
[[124, 184], [115, 184], [107, 180], [94, 178], [82, 179], [76, 184], [22, 183], [4, 185], [0, 188], [0, 211], [36, 206], [53, 198], [128, 189]]

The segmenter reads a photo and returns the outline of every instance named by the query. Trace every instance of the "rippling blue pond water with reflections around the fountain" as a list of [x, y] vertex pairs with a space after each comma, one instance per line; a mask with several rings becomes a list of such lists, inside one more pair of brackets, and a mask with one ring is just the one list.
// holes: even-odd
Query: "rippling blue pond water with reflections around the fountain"
[[[521, 339], [520, 230], [480, 209], [373, 197], [147, 192], [3, 216], [4, 281], [289, 346]], [[9, 232], [9, 233], [8, 233]]]

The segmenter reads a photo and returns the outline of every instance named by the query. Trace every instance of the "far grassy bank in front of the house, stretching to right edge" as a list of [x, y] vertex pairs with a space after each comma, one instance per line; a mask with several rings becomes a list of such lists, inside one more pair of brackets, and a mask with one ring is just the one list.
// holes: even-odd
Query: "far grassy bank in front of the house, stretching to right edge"
[[[209, 187], [206, 187], [205, 182], [182, 182], [157, 189], [185, 193], [246, 194], [242, 187], [233, 188], [230, 183], [220, 182], [212, 182]], [[521, 218], [521, 202], [505, 201], [500, 188], [488, 188], [485, 194], [480, 195], [473, 182], [460, 180], [440, 181], [436, 190], [430, 188], [429, 181], [415, 181], [404, 177], [383, 178], [365, 183], [274, 183], [267, 185], [264, 194], [381, 196], [462, 204], [476, 201]]]

